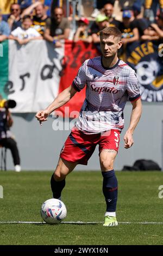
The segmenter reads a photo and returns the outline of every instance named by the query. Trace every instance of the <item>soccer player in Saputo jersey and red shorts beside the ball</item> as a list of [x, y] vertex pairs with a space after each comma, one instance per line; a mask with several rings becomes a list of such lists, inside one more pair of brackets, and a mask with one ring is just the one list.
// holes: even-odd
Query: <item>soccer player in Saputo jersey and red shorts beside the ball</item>
[[46, 121], [50, 113], [63, 106], [86, 85], [86, 99], [79, 118], [61, 150], [59, 162], [51, 178], [53, 197], [60, 199], [66, 175], [78, 163], [87, 164], [96, 145], [103, 175], [106, 202], [104, 226], [116, 226], [117, 179], [114, 160], [123, 129], [123, 109], [129, 99], [133, 105], [130, 124], [124, 136], [124, 148], [130, 148], [133, 132], [141, 116], [141, 99], [135, 71], [117, 57], [122, 46], [121, 32], [106, 27], [100, 32], [102, 56], [87, 59], [70, 87], [61, 92], [45, 110], [36, 114]]

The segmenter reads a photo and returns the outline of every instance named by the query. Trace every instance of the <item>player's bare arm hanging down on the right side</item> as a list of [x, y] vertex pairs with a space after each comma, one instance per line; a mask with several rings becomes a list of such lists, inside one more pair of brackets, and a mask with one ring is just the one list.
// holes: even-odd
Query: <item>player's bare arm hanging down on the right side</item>
[[142, 113], [141, 99], [133, 101], [131, 104], [133, 105], [133, 109], [131, 112], [130, 125], [126, 134], [124, 135], [124, 148], [126, 149], [130, 148], [134, 143], [133, 133], [136, 125], [139, 123]]

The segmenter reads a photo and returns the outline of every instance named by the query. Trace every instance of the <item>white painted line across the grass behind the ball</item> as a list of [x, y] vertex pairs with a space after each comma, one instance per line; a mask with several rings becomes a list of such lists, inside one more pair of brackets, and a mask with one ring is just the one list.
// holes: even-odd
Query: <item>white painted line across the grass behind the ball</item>
[[[63, 221], [64, 224], [99, 224], [103, 222]], [[118, 222], [121, 224], [163, 224], [163, 222]], [[46, 224], [34, 221], [0, 221], [0, 224]]]

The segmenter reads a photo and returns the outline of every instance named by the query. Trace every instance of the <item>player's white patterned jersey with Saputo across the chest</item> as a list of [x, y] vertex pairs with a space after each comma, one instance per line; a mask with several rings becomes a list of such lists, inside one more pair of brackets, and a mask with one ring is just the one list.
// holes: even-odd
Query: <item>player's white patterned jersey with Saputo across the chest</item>
[[89, 134], [110, 129], [121, 131], [127, 100], [134, 101], [140, 97], [135, 71], [120, 59], [108, 69], [103, 66], [101, 56], [85, 60], [72, 86], [78, 92], [86, 86], [86, 99], [76, 127]]

